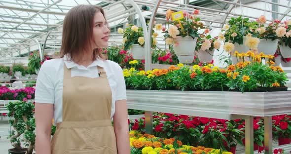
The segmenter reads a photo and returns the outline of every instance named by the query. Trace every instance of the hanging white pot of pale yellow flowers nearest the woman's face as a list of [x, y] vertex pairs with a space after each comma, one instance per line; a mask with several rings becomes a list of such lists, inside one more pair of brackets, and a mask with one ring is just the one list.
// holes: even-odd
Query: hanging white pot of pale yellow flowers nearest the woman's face
[[[145, 59], [145, 38], [144, 29], [136, 25], [127, 24], [127, 28], [123, 30], [118, 28], [118, 33], [123, 34], [122, 43], [124, 45], [124, 50], [129, 50], [132, 53], [134, 59]], [[155, 46], [157, 40], [155, 39], [158, 34], [152, 31], [153, 38], [151, 39], [152, 47]]]

